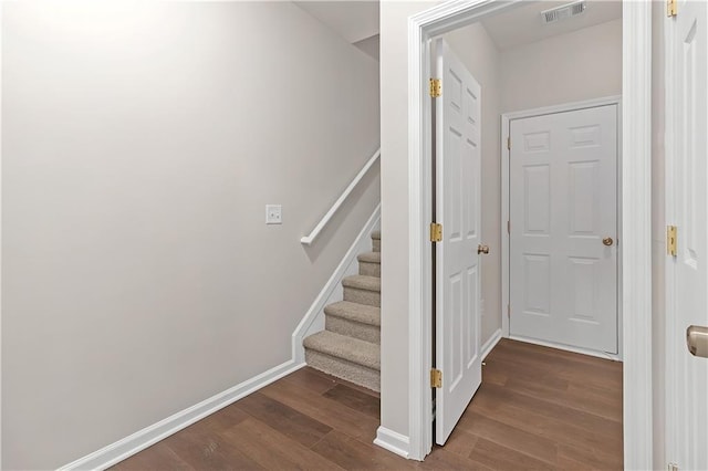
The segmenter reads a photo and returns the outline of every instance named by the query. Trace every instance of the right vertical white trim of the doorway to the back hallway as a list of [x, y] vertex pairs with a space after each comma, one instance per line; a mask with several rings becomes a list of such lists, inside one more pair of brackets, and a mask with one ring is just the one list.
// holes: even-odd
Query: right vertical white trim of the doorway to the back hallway
[[622, 19], [624, 467], [654, 469], [652, 2], [624, 2]]

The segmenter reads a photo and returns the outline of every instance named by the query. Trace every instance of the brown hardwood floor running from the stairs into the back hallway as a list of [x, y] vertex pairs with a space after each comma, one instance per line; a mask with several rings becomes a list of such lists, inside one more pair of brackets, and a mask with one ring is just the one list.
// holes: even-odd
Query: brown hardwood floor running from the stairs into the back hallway
[[502, 339], [445, 447], [372, 443], [378, 395], [303, 368], [114, 470], [620, 470], [622, 364]]

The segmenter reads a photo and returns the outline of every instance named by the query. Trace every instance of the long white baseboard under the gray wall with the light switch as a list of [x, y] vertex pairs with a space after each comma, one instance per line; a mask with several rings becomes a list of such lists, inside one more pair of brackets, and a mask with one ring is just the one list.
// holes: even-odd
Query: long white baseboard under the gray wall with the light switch
[[304, 366], [303, 363], [295, 363], [292, 359], [269, 369], [251, 379], [219, 393], [201, 402], [180, 410], [173, 416], [160, 420], [149, 427], [111, 443], [101, 450], [94, 451], [83, 458], [61, 467], [59, 470], [105, 470], [113, 464], [157, 443], [170, 435], [192, 425], [197, 420], [229, 406], [244, 396], [260, 389], [277, 379], [289, 375]]

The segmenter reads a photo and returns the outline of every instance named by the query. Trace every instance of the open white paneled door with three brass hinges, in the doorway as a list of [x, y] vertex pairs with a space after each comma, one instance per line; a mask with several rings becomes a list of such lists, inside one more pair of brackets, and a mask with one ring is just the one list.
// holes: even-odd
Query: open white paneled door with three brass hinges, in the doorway
[[480, 86], [442, 40], [436, 44], [436, 442], [444, 444], [481, 384]]

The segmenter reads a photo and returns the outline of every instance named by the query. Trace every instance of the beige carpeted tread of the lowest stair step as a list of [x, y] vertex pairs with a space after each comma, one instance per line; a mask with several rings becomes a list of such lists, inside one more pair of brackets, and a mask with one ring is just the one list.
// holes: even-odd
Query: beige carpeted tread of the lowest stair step
[[379, 346], [369, 342], [335, 334], [330, 331], [317, 332], [303, 341], [305, 348], [342, 358], [347, 362], [381, 370]]

